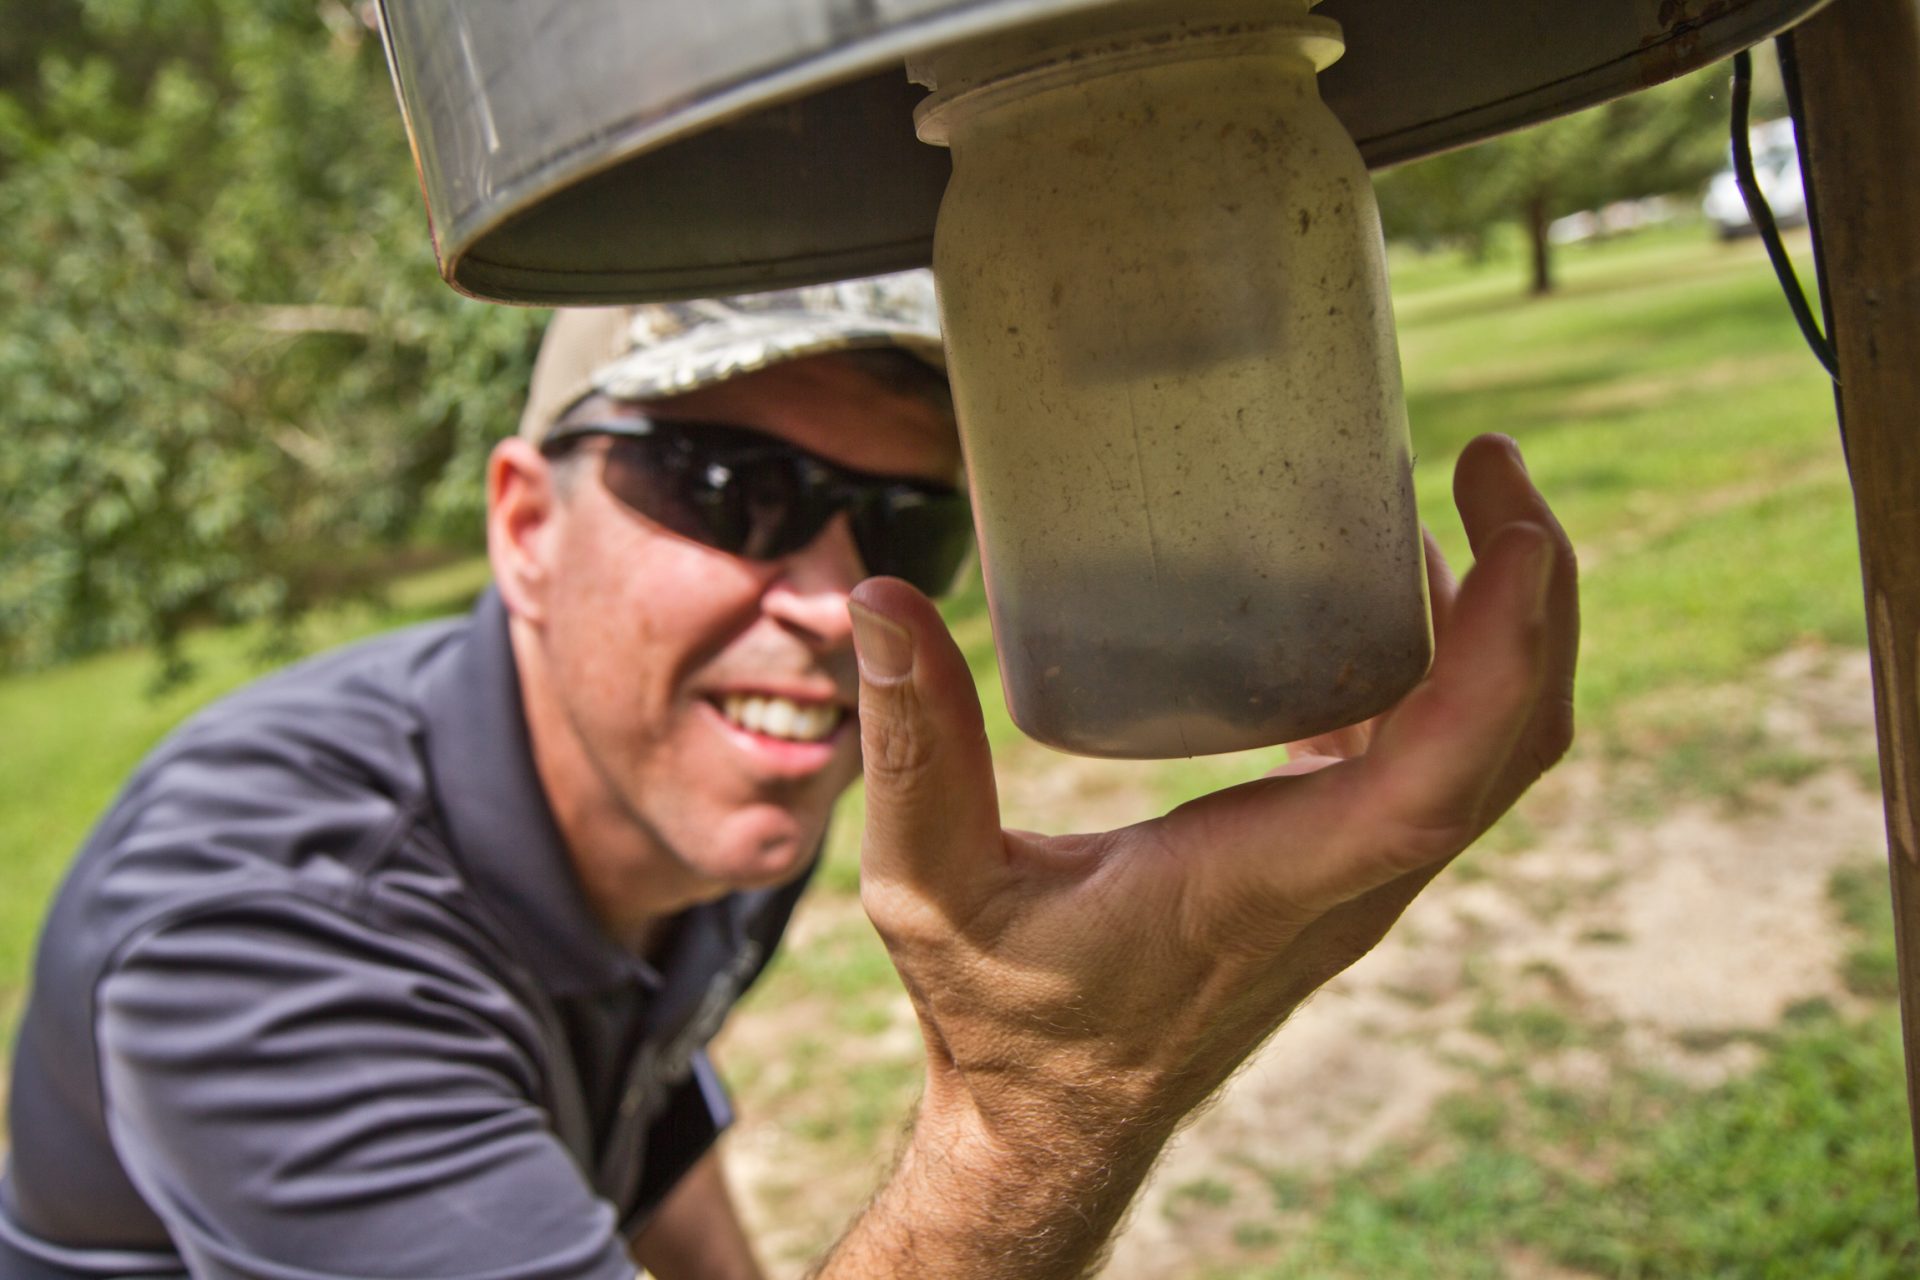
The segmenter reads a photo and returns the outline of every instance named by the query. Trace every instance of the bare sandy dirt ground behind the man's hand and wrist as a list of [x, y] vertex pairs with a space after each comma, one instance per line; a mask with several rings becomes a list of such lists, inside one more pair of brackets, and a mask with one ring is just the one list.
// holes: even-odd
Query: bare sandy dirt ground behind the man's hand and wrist
[[[1524, 1050], [1528, 1079], [1588, 1090], [1626, 1065], [1713, 1082], [1757, 1059], [1743, 1032], [1774, 1027], [1799, 1002], [1845, 1006], [1828, 879], [1884, 858], [1880, 798], [1859, 764], [1860, 743], [1872, 743], [1866, 658], [1795, 651], [1740, 699], [1764, 710], [1757, 748], [1799, 752], [1791, 785], [1763, 777], [1732, 796], [1682, 796], [1632, 816], [1620, 812], [1630, 764], [1582, 758], [1557, 771], [1528, 798], [1530, 839], [1471, 850], [1183, 1132], [1104, 1274], [1160, 1280], [1233, 1259], [1235, 1224], [1271, 1203], [1275, 1171], [1317, 1176], [1415, 1136], [1442, 1098], [1475, 1086], [1476, 1063], [1513, 1063], [1501, 1027], [1517, 1017], [1565, 1031]], [[1010, 752], [1008, 821], [1066, 829], [1137, 818], [1129, 768], [1056, 758], [1037, 770]], [[793, 1017], [806, 1011], [781, 1011]], [[900, 1038], [904, 1013], [887, 1034], [891, 1052], [914, 1052]], [[797, 1184], [808, 1144], [778, 1117], [745, 1121], [733, 1148], [778, 1274], [799, 1274], [806, 1242], [831, 1238], [885, 1159], [872, 1151], [862, 1169]], [[1202, 1199], [1235, 1211], [1206, 1211]], [[1509, 1274], [1565, 1272], [1517, 1259]]]

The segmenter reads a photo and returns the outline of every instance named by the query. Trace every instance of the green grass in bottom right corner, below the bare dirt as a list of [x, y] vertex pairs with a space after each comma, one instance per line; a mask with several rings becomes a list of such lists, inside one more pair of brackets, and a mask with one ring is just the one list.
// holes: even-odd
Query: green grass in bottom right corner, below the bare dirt
[[[1705, 1094], [1638, 1075], [1599, 1100], [1453, 1100], [1436, 1146], [1334, 1180], [1279, 1259], [1213, 1274], [1500, 1280], [1532, 1257], [1607, 1280], [1910, 1276], [1899, 1071], [1887, 1007], [1864, 1023], [1816, 1013], [1759, 1071]], [[1298, 1192], [1281, 1211], [1298, 1215]]]

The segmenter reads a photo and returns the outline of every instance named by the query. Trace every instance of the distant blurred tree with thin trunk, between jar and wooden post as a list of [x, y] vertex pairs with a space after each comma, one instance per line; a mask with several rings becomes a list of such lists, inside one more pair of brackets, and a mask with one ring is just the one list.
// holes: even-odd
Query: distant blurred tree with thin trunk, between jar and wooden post
[[1617, 200], [1695, 190], [1726, 159], [1726, 71], [1709, 67], [1626, 98], [1377, 178], [1390, 238], [1476, 249], [1517, 221], [1530, 290], [1553, 288], [1555, 219]]

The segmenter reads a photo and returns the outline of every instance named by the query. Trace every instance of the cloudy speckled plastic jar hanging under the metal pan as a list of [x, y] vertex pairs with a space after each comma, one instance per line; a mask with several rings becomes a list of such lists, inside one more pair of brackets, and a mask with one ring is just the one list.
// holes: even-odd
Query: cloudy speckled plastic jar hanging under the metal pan
[[914, 67], [1000, 674], [1064, 750], [1290, 741], [1430, 660], [1379, 211], [1308, 8], [1121, 4]]

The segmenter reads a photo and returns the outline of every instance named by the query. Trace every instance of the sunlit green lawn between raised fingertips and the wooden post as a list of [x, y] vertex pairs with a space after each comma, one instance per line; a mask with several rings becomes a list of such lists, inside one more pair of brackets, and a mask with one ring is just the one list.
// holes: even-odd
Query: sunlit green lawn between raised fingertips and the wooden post
[[1862, 643], [1832, 388], [1772, 274], [1670, 238], [1599, 261], [1471, 324], [1425, 294], [1404, 309], [1421, 507], [1450, 555], [1452, 461], [1503, 430], [1590, 560], [1584, 718], [1738, 679], [1797, 639]]

